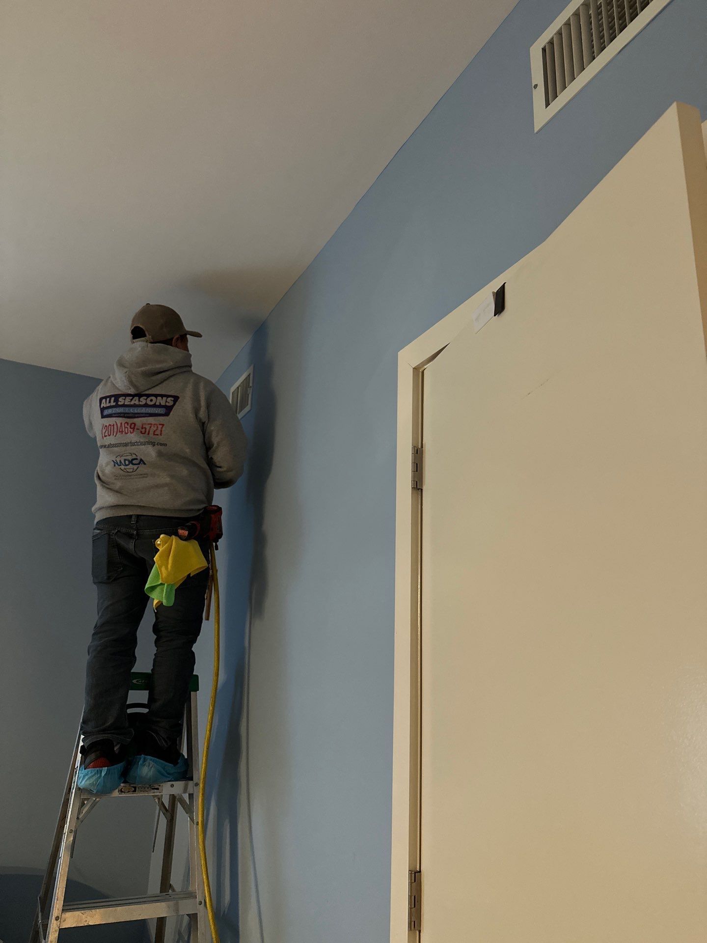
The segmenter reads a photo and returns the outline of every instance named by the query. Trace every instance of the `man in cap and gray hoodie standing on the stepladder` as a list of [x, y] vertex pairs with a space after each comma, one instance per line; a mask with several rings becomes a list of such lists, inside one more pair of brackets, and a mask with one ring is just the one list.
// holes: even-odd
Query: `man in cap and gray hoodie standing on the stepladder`
[[[145, 584], [156, 539], [177, 537], [180, 528], [199, 521], [214, 488], [238, 481], [246, 452], [228, 399], [191, 370], [189, 335], [202, 335], [188, 331], [163, 305], [141, 307], [130, 333], [130, 347], [84, 404], [84, 422], [100, 452], [91, 564], [98, 619], [89, 646], [76, 785], [99, 795], [123, 781], [150, 785], [186, 774], [179, 744], [208, 571], [181, 583], [173, 604], [156, 606], [148, 710], [131, 725], [126, 703], [149, 599]], [[207, 554], [207, 541], [200, 545]]]

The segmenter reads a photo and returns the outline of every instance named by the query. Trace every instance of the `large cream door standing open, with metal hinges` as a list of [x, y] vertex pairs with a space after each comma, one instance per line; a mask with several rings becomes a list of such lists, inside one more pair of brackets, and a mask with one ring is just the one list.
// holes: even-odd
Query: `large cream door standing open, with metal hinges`
[[707, 940], [706, 192], [672, 108], [424, 372], [422, 943]]

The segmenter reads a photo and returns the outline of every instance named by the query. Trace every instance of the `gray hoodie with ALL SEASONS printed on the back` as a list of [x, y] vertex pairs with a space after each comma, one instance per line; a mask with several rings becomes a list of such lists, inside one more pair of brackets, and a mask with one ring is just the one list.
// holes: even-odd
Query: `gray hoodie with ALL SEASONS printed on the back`
[[195, 514], [243, 471], [246, 438], [233, 406], [176, 347], [134, 341], [84, 403], [84, 422], [100, 453], [96, 521]]

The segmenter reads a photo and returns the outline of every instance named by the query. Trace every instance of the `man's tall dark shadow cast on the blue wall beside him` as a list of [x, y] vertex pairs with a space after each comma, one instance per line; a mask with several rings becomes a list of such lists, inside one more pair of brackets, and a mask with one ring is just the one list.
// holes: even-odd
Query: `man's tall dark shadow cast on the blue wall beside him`
[[[298, 339], [288, 346], [290, 364], [297, 360]], [[272, 359], [269, 325], [264, 323], [253, 339], [238, 356], [234, 365], [234, 379], [239, 372], [254, 365], [253, 408], [243, 419], [248, 435], [249, 455], [244, 480], [232, 492], [224, 495], [226, 506], [226, 533], [222, 544], [222, 671], [218, 708], [212, 738], [214, 770], [207, 795], [209, 833], [216, 837], [216, 853], [212, 884], [214, 902], [222, 938], [238, 943], [264, 943], [263, 916], [260, 904], [258, 874], [255, 863], [255, 841], [251, 825], [251, 770], [249, 764], [250, 723], [248, 717], [249, 654], [252, 651], [251, 631], [255, 623], [255, 649], [263, 652], [256, 658], [260, 670], [268, 674], [268, 689], [276, 692], [270, 699], [269, 710], [274, 718], [283, 716], [285, 703], [285, 645], [284, 613], [268, 605], [267, 624], [263, 620], [268, 596], [269, 566], [272, 550], [268, 547], [265, 531], [265, 506], [275, 501], [282, 491], [288, 491], [287, 481], [271, 482], [274, 455], [277, 404], [273, 392]], [[296, 372], [296, 371], [295, 371]], [[287, 463], [284, 463], [287, 465]], [[283, 467], [282, 465], [280, 466]], [[287, 474], [287, 473], [286, 473]], [[279, 499], [277, 499], [279, 501]], [[294, 492], [287, 494], [287, 513], [292, 521], [291, 533], [296, 533], [297, 507]], [[288, 570], [297, 565], [296, 555]], [[273, 619], [273, 611], [278, 616]], [[261, 666], [265, 666], [262, 668]], [[273, 703], [273, 698], [276, 703]], [[268, 753], [276, 757], [278, 776], [288, 782], [288, 747], [284, 730], [258, 730], [258, 739], [267, 739]], [[258, 750], [260, 756], [263, 749]], [[263, 777], [258, 771], [256, 781], [255, 821], [258, 848], [273, 850], [274, 838], [264, 834], [268, 829], [268, 810], [271, 798], [263, 789]], [[274, 802], [274, 797], [272, 797]], [[240, 830], [240, 831], [239, 831]], [[266, 872], [268, 900], [273, 888], [281, 885], [284, 875], [278, 874], [278, 855], [269, 853], [267, 861], [257, 865]], [[276, 895], [274, 895], [276, 896]], [[267, 943], [271, 943], [268, 939]]]

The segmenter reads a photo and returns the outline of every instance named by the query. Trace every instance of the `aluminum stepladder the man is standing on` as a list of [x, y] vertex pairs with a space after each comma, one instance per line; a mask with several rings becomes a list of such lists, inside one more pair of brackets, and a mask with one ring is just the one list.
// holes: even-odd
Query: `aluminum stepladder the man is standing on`
[[[151, 678], [149, 671], [133, 672], [130, 690], [149, 690]], [[207, 943], [210, 940], [196, 827], [199, 806], [199, 728], [196, 705], [198, 690], [199, 676], [194, 674], [189, 682], [189, 699], [185, 709], [188, 779], [160, 783], [157, 786], [131, 786], [123, 783], [115, 792], [108, 793], [106, 796], [96, 796], [87, 789], [79, 789], [76, 786], [76, 777], [81, 764], [81, 735], [76, 737], [74, 756], [59, 810], [52, 851], [44, 872], [29, 943], [58, 943], [59, 931], [69, 927], [90, 927], [152, 918], [156, 918], [155, 943], [164, 943], [167, 918], [181, 916], [189, 916], [191, 943]], [[153, 851], [155, 851], [160, 814], [166, 820], [159, 893], [114, 900], [65, 902], [69, 864], [73, 856], [79, 825], [98, 802], [115, 799], [124, 801], [126, 798], [136, 796], [152, 797], [157, 804]], [[172, 884], [174, 835], [179, 808], [189, 819], [189, 888], [182, 891], [175, 890]]]

